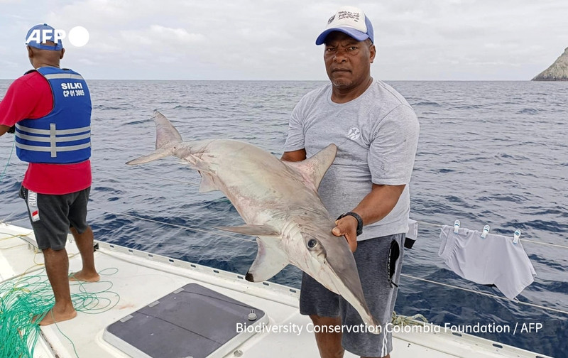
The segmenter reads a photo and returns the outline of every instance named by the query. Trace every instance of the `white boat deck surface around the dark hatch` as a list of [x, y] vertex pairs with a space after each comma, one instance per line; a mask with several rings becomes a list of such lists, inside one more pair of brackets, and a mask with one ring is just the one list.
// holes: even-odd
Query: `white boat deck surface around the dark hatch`
[[[43, 256], [37, 252], [34, 243], [30, 229], [0, 224], [0, 282], [34, 275], [43, 269]], [[81, 287], [91, 292], [110, 288], [107, 298], [116, 305], [97, 314], [78, 312], [73, 320], [42, 327], [33, 357], [129, 357], [103, 339], [105, 328], [188, 283], [198, 283], [263, 310], [268, 316], [268, 328], [302, 328], [300, 334], [297, 329], [293, 332], [255, 333], [244, 342], [238, 342], [230, 352], [209, 357], [319, 357], [313, 333], [307, 332], [310, 320], [300, 315], [298, 310], [299, 290], [269, 282], [249, 283], [244, 276], [235, 273], [123, 246], [104, 242], [97, 242], [97, 246], [95, 261], [101, 281], [82, 286], [74, 283], [72, 292]], [[67, 243], [67, 253], [70, 255], [70, 271], [79, 270], [81, 259], [73, 242]], [[109, 303], [101, 301], [99, 304]], [[542, 354], [443, 330], [394, 333], [393, 336], [391, 355], [396, 358], [545, 358]], [[345, 357], [356, 356], [346, 352]]]

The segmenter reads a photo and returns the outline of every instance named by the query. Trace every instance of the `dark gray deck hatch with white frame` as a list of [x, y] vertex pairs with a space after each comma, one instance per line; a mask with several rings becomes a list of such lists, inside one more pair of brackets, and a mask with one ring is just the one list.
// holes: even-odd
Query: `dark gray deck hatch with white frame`
[[[254, 332], [237, 324], [266, 325], [263, 310], [190, 283], [104, 330], [104, 340], [134, 358], [214, 358], [233, 352]], [[155, 303], [154, 302], [154, 303]], [[254, 310], [256, 320], [249, 314]], [[242, 325], [240, 326], [242, 327]], [[253, 331], [253, 330], [249, 330]]]

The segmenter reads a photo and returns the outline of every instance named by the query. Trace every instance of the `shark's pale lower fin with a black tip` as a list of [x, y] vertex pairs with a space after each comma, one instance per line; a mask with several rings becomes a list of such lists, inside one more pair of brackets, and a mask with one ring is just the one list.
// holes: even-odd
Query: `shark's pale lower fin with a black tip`
[[275, 245], [267, 244], [260, 237], [256, 238], [258, 251], [256, 259], [246, 273], [246, 281], [266, 281], [288, 265], [286, 254]]

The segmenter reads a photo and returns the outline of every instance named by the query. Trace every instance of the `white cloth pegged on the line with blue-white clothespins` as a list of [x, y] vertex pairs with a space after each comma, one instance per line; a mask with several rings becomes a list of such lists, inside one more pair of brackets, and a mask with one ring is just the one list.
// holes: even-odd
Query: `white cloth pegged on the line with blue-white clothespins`
[[439, 237], [439, 256], [462, 278], [494, 284], [510, 300], [534, 281], [535, 268], [523, 245], [513, 244], [513, 237], [487, 234], [484, 239], [481, 232], [466, 228], [456, 234], [448, 225], [442, 226]]

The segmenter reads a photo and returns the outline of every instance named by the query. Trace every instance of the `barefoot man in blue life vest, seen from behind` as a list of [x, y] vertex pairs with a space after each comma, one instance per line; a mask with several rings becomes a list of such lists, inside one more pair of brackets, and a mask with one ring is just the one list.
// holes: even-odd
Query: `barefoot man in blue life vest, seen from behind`
[[[91, 188], [91, 97], [77, 72], [60, 68], [65, 49], [47, 24], [28, 31], [28, 58], [34, 70], [15, 80], [0, 102], [0, 136], [16, 136], [16, 154], [29, 163], [20, 197], [26, 200], [55, 305], [34, 318], [40, 325], [77, 315], [70, 280], [99, 281], [94, 267], [93, 232], [87, 224]], [[65, 251], [75, 237], [82, 270], [69, 276]]]

